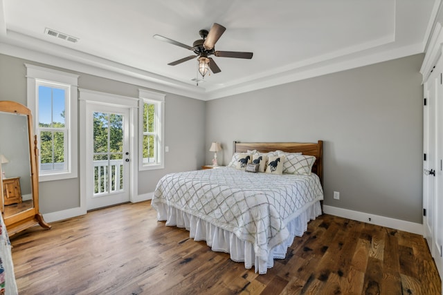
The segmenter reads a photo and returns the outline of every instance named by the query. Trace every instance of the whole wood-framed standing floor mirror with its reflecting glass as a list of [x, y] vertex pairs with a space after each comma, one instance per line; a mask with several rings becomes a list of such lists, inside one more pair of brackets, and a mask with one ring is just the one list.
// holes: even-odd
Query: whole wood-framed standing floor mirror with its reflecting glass
[[40, 225], [50, 229], [39, 212], [37, 136], [29, 108], [0, 101], [1, 213], [12, 236]]

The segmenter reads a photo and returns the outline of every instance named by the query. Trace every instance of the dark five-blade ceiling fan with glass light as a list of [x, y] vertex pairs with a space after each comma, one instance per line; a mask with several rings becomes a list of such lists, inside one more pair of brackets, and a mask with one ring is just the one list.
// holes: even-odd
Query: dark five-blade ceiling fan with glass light
[[183, 57], [182, 59], [170, 62], [168, 65], [177, 66], [177, 64], [181, 64], [182, 62], [198, 57], [199, 73], [204, 77], [206, 73], [208, 73], [209, 69], [214, 74], [221, 72], [220, 68], [217, 66], [217, 64], [215, 64], [214, 59], [209, 57], [210, 55], [215, 55], [216, 57], [235, 57], [239, 59], [252, 58], [253, 53], [242, 53], [238, 51], [215, 51], [215, 43], [217, 43], [218, 39], [221, 37], [225, 30], [226, 28], [224, 26], [221, 26], [218, 23], [214, 23], [209, 32], [208, 30], [199, 31], [201, 39], [194, 41], [194, 44], [192, 44], [192, 46], [188, 46], [186, 44], [174, 41], [161, 35], [154, 35], [153, 37], [154, 39], [165, 41], [170, 44], [193, 51], [196, 55]]

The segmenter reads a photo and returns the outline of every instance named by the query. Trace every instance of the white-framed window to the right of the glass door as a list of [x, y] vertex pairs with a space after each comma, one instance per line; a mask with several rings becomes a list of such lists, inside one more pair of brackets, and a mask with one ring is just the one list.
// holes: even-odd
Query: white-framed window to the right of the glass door
[[139, 104], [139, 170], [164, 168], [163, 114], [165, 95], [151, 91], [140, 92]]

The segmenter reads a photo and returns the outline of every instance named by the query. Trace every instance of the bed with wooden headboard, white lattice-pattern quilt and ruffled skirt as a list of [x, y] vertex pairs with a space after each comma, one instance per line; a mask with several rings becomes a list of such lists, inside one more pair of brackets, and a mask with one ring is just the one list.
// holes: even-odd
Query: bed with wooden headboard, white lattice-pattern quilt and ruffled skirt
[[[266, 159], [261, 172], [246, 172], [247, 164], [258, 158]], [[300, 168], [296, 160], [308, 164]], [[227, 166], [163, 176], [152, 207], [165, 225], [186, 228], [190, 238], [206, 240], [213, 251], [229, 253], [247, 269], [266, 274], [307, 230], [309, 220], [322, 213], [322, 183], [321, 140], [234, 142]]]

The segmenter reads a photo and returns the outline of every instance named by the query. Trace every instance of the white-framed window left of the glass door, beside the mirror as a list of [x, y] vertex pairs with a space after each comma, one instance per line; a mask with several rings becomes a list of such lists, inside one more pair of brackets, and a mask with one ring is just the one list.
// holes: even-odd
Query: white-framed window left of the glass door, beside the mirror
[[78, 75], [26, 64], [39, 181], [77, 177]]

